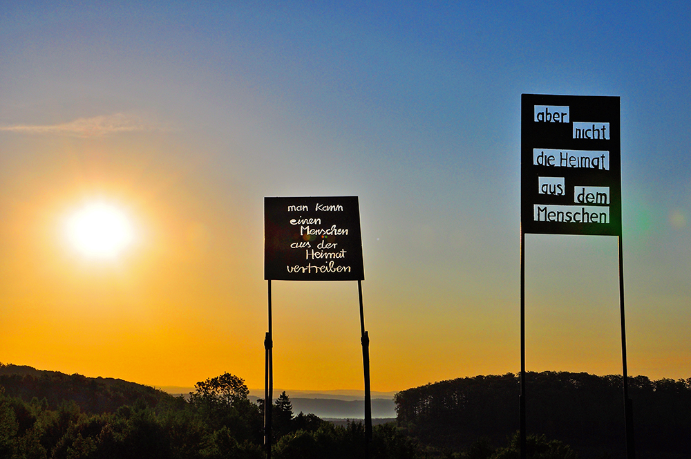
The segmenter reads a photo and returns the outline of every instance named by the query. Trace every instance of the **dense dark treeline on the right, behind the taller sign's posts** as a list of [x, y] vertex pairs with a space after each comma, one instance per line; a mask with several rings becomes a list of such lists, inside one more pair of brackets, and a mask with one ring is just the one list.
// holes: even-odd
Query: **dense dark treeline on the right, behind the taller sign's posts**
[[[571, 445], [581, 458], [625, 456], [622, 378], [527, 373], [527, 430]], [[639, 458], [691, 457], [691, 378], [630, 377]], [[519, 375], [464, 377], [395, 395], [399, 427], [454, 451], [478, 438], [498, 445], [519, 429]]]

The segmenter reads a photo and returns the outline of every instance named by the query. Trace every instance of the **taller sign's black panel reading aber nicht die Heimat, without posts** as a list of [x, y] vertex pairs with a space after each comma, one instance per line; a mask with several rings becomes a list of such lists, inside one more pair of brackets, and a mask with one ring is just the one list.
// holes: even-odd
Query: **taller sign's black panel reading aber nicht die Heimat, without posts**
[[619, 97], [521, 96], [524, 233], [621, 236]]

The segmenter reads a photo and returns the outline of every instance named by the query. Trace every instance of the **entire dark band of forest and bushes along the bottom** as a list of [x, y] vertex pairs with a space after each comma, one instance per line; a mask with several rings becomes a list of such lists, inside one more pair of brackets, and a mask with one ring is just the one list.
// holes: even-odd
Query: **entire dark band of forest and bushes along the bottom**
[[[621, 377], [529, 373], [528, 457], [623, 458]], [[395, 395], [397, 422], [374, 427], [372, 459], [518, 458], [518, 375], [465, 377]], [[0, 364], [0, 458], [265, 458], [263, 400], [224, 373], [185, 397], [111, 378]], [[631, 378], [638, 458], [689, 458], [691, 380]], [[272, 403], [272, 458], [363, 458], [345, 426]]]

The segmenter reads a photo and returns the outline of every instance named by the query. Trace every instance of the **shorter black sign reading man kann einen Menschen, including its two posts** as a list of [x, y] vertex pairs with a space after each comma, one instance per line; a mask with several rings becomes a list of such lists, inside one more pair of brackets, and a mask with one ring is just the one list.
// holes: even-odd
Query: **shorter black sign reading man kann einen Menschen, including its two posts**
[[269, 283], [264, 435], [271, 459], [273, 390], [271, 281], [357, 281], [365, 377], [365, 458], [372, 440], [370, 337], [362, 301], [362, 239], [357, 196], [264, 198], [264, 279]]

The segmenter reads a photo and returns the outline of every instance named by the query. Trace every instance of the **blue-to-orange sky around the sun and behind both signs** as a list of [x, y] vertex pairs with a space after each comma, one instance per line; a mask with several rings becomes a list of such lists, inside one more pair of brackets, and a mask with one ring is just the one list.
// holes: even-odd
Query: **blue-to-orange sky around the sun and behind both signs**
[[[0, 362], [263, 388], [263, 199], [358, 196], [372, 390], [518, 373], [539, 93], [621, 97], [628, 373], [691, 377], [690, 23], [682, 1], [3, 2]], [[109, 256], [66, 229], [95, 203], [131, 231]], [[617, 254], [527, 234], [528, 371], [621, 374]], [[357, 283], [274, 281], [272, 309], [274, 386], [363, 387]]]

